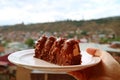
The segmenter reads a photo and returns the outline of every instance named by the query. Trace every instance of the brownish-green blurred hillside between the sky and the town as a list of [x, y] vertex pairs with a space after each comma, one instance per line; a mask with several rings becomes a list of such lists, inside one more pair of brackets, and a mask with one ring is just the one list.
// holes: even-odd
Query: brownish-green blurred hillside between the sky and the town
[[0, 32], [9, 31], [48, 31], [48, 32], [64, 32], [84, 30], [90, 32], [103, 32], [103, 33], [115, 33], [120, 36], [120, 16], [108, 17], [94, 20], [64, 20], [48, 23], [36, 23], [36, 24], [16, 24], [0, 27]]

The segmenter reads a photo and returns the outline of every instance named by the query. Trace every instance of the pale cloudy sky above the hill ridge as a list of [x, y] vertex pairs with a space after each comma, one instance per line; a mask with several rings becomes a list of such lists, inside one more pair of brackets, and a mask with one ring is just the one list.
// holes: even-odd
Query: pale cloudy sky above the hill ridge
[[0, 25], [120, 16], [120, 0], [0, 0]]

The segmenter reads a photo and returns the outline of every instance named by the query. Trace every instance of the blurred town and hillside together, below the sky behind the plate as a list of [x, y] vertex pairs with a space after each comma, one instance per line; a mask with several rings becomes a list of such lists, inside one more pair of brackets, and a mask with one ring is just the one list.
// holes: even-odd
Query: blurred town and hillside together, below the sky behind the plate
[[[88, 45], [89, 47], [99, 45], [98, 48], [110, 52], [120, 62], [119, 16], [96, 20], [64, 20], [36, 24], [21, 22], [15, 25], [0, 26], [0, 63], [5, 68], [3, 73], [10, 80], [15, 80], [15, 71], [7, 71], [9, 66], [13, 66], [7, 60], [7, 56], [15, 51], [34, 48], [35, 42], [42, 35], [78, 39], [81, 49]], [[7, 79], [3, 75], [0, 76], [0, 80]]]

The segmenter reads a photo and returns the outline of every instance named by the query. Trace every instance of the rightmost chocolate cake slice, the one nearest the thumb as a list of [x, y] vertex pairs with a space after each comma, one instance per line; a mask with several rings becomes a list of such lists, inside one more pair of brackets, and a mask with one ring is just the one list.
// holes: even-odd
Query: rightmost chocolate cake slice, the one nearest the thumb
[[60, 65], [77, 65], [81, 63], [81, 55], [78, 41], [68, 39], [65, 41], [58, 56]]

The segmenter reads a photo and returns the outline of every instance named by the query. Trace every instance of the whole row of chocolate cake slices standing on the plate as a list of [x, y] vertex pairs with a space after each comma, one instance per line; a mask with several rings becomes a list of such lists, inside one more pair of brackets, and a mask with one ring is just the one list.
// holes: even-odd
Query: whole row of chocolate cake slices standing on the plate
[[35, 45], [34, 57], [58, 65], [81, 64], [79, 42], [75, 39], [42, 36]]

